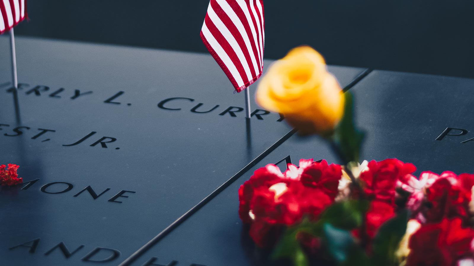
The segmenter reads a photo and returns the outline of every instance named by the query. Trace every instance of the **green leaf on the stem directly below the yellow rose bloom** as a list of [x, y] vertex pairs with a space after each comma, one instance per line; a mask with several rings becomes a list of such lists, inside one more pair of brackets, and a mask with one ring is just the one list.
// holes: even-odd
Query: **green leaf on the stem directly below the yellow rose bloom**
[[345, 164], [359, 161], [365, 133], [359, 131], [354, 123], [354, 100], [350, 91], [344, 93], [344, 115], [337, 125], [332, 142], [338, 156]]

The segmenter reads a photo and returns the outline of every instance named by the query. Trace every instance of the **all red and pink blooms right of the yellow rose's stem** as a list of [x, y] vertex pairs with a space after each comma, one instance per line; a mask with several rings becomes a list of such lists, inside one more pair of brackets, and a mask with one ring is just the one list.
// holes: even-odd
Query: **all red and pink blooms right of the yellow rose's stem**
[[[367, 234], [373, 237], [396, 209], [406, 207], [421, 224], [410, 237], [406, 266], [457, 266], [462, 259], [474, 259], [470, 227], [474, 175], [427, 171], [417, 178], [411, 175], [415, 170], [414, 165], [396, 159], [369, 162], [359, 177], [365, 194], [373, 199], [367, 212]], [[405, 204], [395, 204], [401, 198]]]

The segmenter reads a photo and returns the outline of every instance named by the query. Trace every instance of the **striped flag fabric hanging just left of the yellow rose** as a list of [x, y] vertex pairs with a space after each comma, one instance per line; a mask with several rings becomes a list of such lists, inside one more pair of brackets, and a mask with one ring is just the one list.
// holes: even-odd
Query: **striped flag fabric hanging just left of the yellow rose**
[[237, 92], [262, 75], [264, 29], [263, 0], [210, 0], [201, 39]]

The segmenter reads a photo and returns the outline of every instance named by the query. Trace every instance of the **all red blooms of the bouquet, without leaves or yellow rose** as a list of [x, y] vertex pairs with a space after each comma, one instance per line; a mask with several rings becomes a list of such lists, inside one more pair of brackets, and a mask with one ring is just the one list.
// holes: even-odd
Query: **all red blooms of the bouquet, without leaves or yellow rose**
[[[281, 232], [304, 217], [317, 221], [336, 199], [370, 202], [364, 227], [354, 237], [374, 239], [380, 227], [402, 209], [411, 211], [419, 229], [407, 235], [406, 266], [474, 265], [474, 175], [412, 173], [416, 167], [396, 159], [371, 161], [351, 181], [340, 165], [323, 160], [300, 160], [282, 173], [269, 164], [255, 171], [239, 189], [239, 215], [250, 226], [249, 234], [260, 247], [276, 243]], [[360, 172], [360, 174], [359, 174]], [[349, 189], [349, 193], [347, 190]], [[311, 239], [310, 239], [311, 240]], [[369, 242], [370, 243], [370, 242]], [[369, 245], [370, 246], [370, 245]], [[369, 248], [370, 252], [370, 248]]]

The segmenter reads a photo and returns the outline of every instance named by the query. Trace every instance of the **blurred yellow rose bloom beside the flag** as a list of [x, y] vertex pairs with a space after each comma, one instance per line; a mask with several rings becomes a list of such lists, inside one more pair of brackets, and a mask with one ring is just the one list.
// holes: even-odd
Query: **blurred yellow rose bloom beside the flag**
[[260, 81], [256, 100], [265, 109], [283, 114], [301, 134], [331, 132], [344, 113], [339, 83], [310, 46], [294, 48], [273, 63]]

